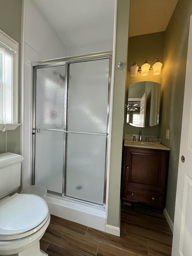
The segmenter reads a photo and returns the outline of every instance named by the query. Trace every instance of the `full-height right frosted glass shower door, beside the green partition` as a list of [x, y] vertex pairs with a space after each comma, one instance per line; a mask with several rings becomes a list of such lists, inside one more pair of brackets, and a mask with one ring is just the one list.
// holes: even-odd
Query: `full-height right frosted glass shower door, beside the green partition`
[[[107, 70], [106, 70], [107, 69]], [[65, 195], [103, 204], [109, 59], [69, 64]]]

